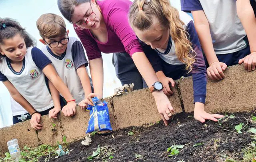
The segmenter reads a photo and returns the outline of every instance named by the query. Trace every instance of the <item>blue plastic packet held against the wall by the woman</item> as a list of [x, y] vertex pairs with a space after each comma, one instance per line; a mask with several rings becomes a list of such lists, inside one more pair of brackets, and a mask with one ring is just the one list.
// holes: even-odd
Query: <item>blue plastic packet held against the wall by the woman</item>
[[92, 101], [94, 106], [89, 105], [86, 109], [90, 111], [90, 119], [86, 133], [93, 131], [112, 131], [106, 101], [102, 102], [97, 97], [93, 98]]

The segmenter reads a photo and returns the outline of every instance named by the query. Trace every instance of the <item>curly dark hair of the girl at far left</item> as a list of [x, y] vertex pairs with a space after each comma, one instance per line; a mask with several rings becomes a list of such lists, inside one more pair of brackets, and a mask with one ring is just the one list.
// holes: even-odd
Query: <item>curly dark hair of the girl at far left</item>
[[[36, 46], [35, 39], [21, 27], [18, 21], [11, 18], [0, 18], [0, 44], [4, 43], [4, 39], [13, 38], [16, 34], [20, 34], [23, 37], [26, 47]], [[1, 57], [5, 56], [0, 55], [0, 60]]]

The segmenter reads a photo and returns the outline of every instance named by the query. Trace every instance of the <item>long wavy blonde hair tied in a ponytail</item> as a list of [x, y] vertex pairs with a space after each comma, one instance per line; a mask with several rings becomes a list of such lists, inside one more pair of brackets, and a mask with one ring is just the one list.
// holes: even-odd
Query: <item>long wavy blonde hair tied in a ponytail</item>
[[192, 70], [196, 52], [192, 49], [185, 24], [180, 20], [179, 12], [172, 7], [169, 0], [134, 0], [129, 13], [132, 27], [143, 31], [149, 29], [156, 17], [162, 28], [170, 29], [170, 36], [175, 43], [178, 59], [186, 64], [186, 70]]

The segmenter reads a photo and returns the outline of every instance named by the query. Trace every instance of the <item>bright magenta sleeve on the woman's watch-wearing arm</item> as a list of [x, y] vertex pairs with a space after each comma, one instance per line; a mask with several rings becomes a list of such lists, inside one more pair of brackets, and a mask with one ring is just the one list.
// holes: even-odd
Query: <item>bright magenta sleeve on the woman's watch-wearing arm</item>
[[125, 51], [132, 57], [134, 53], [143, 52], [143, 50], [128, 22], [128, 10], [129, 8], [110, 9], [111, 12], [108, 14], [107, 23], [110, 29], [112, 29], [121, 40]]

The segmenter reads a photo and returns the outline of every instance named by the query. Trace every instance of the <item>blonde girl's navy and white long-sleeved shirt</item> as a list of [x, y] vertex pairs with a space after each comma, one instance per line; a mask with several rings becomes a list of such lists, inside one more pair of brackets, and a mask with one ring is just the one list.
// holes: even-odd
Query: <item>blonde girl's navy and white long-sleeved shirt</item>
[[[180, 12], [180, 19], [186, 25], [185, 28], [186, 28], [186, 31], [188, 32], [190, 42], [192, 43], [192, 48], [196, 52], [196, 56], [194, 57], [196, 62], [192, 64], [192, 72], [191, 72], [192, 78], [193, 78], [194, 103], [195, 102], [205, 103], [207, 75], [206, 75], [206, 66], [204, 63], [204, 57], [202, 54], [201, 45], [200, 45], [192, 18], [184, 12]], [[164, 60], [169, 64], [174, 64], [174, 65], [182, 64], [182, 62], [180, 63], [178, 62], [178, 59], [175, 53], [175, 45], [171, 37], [168, 43], [168, 47], [163, 53], [161, 53], [161, 51], [158, 49], [157, 50], [151, 49], [150, 46], [146, 45], [141, 41], [140, 43], [142, 44], [142, 47], [144, 48], [146, 56], [148, 57], [150, 63], [152, 64], [155, 72], [163, 71], [162, 60]], [[168, 57], [165, 57], [164, 55], [168, 55]]]

